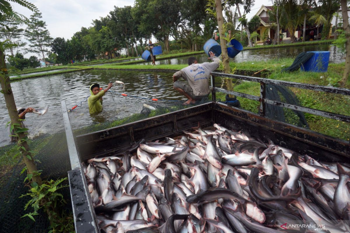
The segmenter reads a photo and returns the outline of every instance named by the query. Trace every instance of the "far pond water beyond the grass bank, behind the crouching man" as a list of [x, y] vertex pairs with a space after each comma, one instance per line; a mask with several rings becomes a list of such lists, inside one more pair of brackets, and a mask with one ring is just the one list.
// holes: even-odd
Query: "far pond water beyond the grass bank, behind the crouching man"
[[[243, 61], [258, 61], [268, 60], [274, 58], [294, 58], [301, 52], [309, 51], [329, 51], [329, 62], [341, 63], [345, 61], [344, 54], [336, 48], [336, 46], [323, 44], [323, 45], [309, 45], [309, 46], [293, 46], [283, 48], [272, 48], [272, 49], [257, 49], [257, 50], [243, 50], [235, 58], [230, 58], [231, 62], [243, 62]], [[170, 65], [170, 64], [186, 64], [187, 57], [171, 58], [165, 60], [159, 60], [155, 62], [156, 65]], [[196, 57], [198, 63], [208, 61], [207, 54], [197, 54]], [[137, 63], [135, 65], [150, 65], [151, 62]]]

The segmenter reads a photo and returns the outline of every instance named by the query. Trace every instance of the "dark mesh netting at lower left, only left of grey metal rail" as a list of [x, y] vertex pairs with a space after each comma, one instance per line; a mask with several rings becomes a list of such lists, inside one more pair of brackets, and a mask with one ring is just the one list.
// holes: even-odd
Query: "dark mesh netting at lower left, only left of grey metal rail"
[[[15, 144], [1, 147], [0, 154], [2, 156], [13, 156], [15, 147]], [[67, 177], [67, 172], [70, 170], [70, 161], [64, 132], [50, 136], [44, 135], [30, 140], [29, 147], [31, 150], [38, 152], [35, 159], [40, 161], [37, 163], [37, 168], [42, 170], [41, 177], [43, 180], [57, 180]], [[50, 224], [47, 215], [42, 211], [34, 217], [35, 222], [28, 217], [21, 218], [29, 211], [33, 211], [30, 207], [28, 210], [24, 210], [24, 206], [30, 197], [20, 198], [21, 195], [28, 192], [28, 187], [23, 183], [26, 173], [20, 174], [23, 167], [25, 165], [20, 157], [11, 165], [2, 167], [3, 172], [0, 177], [0, 232], [46, 233], [49, 231]], [[68, 184], [68, 182], [65, 184]], [[64, 208], [71, 211], [69, 188], [61, 189], [59, 192], [67, 202]]]

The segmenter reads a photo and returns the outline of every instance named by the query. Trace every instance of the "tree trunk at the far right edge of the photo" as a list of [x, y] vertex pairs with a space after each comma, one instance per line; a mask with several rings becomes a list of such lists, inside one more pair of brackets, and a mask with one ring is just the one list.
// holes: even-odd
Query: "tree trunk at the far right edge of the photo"
[[344, 67], [344, 73], [343, 78], [340, 81], [340, 87], [345, 87], [346, 81], [349, 78], [350, 74], [350, 26], [349, 26], [349, 16], [348, 16], [348, 6], [346, 4], [346, 0], [341, 0], [341, 6], [342, 6], [342, 15], [343, 15], [343, 30], [345, 32], [345, 67]]

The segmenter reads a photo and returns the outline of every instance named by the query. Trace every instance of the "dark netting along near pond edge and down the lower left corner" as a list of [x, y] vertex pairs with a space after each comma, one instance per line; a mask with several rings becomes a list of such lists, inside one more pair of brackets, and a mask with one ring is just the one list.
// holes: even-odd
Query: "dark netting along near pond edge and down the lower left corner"
[[[208, 102], [208, 98], [197, 101], [194, 105]], [[90, 133], [98, 130], [104, 130], [118, 125], [139, 121], [148, 117], [166, 114], [194, 105], [182, 105], [184, 101], [140, 101], [141, 111], [131, 116], [118, 119], [116, 121], [105, 121], [103, 123], [92, 124], [73, 131], [74, 135]], [[87, 105], [86, 102], [82, 103]], [[86, 106], [84, 106], [86, 107]], [[72, 125], [74, 128], [74, 125]], [[28, 142], [31, 150], [35, 150], [35, 160], [37, 168], [42, 170], [43, 180], [57, 180], [67, 177], [70, 168], [70, 160], [65, 132], [62, 129], [59, 133], [49, 135], [45, 134]], [[48, 232], [49, 220], [45, 213], [40, 212], [35, 216], [35, 222], [28, 217], [21, 218], [24, 214], [31, 212], [30, 207], [24, 210], [24, 206], [29, 197], [20, 198], [21, 195], [28, 192], [28, 187], [23, 183], [26, 173], [20, 174], [25, 164], [22, 158], [12, 159], [17, 153], [16, 144], [0, 147], [0, 155], [6, 157], [8, 161], [6, 166], [0, 165], [0, 232]], [[2, 160], [4, 158], [1, 158]], [[65, 184], [68, 184], [66, 182]], [[65, 208], [71, 210], [71, 200], [69, 188], [59, 191], [63, 194], [67, 204]]]

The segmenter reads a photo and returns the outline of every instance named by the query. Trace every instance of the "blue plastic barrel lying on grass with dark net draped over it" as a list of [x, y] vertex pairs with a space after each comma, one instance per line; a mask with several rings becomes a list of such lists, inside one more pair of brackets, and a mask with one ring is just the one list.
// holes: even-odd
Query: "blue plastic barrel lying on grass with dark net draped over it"
[[314, 56], [300, 67], [302, 71], [327, 72], [329, 51], [312, 51]]

